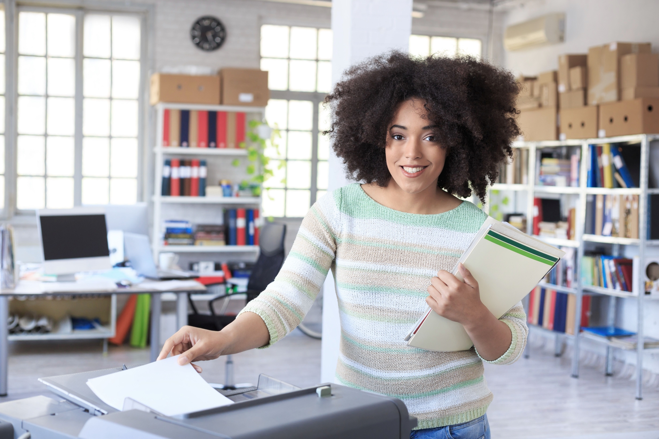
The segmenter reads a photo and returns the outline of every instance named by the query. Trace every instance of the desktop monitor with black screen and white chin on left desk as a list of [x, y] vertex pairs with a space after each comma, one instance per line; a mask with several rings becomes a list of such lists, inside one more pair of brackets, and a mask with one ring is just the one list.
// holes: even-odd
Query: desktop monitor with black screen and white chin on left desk
[[112, 267], [103, 207], [38, 209], [36, 215], [45, 274]]

